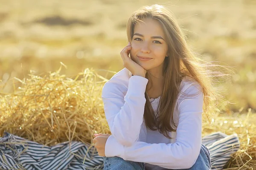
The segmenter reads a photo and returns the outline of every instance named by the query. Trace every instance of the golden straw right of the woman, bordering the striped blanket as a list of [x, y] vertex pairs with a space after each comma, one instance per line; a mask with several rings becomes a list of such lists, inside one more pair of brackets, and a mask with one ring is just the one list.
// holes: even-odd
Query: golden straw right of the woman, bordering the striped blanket
[[[227, 114], [226, 114], [227, 115]], [[203, 124], [205, 136], [220, 131], [231, 135], [237, 133], [240, 149], [231, 155], [230, 161], [224, 170], [253, 170], [256, 168], [256, 114], [248, 109], [247, 113], [233, 113], [232, 116], [219, 114], [212, 119], [212, 124]]]

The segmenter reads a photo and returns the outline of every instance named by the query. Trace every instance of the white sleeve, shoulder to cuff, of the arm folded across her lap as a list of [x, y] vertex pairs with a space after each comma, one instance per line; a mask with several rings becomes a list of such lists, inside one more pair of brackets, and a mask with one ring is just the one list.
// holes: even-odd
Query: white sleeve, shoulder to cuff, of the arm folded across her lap
[[[197, 88], [190, 87], [189, 93], [194, 93]], [[135, 142], [132, 146], [122, 146], [113, 137], [109, 137], [106, 144], [111, 142], [116, 149], [106, 148], [106, 156], [119, 156], [127, 161], [154, 164], [167, 169], [188, 169], [195, 164], [202, 144], [202, 112], [203, 93], [199, 92], [194, 97], [180, 100], [179, 123], [175, 143], [148, 144]]]

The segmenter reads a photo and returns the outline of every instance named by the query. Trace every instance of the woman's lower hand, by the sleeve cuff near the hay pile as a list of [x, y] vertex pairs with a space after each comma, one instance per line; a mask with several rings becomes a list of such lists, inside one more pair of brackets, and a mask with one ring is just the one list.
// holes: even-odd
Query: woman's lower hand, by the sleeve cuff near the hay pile
[[105, 156], [105, 145], [110, 134], [94, 134], [95, 138], [93, 139], [94, 146], [98, 151], [99, 156]]

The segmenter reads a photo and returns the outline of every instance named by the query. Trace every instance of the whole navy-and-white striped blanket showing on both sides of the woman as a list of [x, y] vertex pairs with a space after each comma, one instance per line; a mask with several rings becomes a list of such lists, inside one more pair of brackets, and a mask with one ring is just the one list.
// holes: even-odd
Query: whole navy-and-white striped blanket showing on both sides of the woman
[[[236, 134], [216, 132], [204, 136], [212, 170], [221, 170], [239, 150]], [[81, 142], [63, 142], [49, 147], [5, 132], [0, 138], [0, 169], [3, 170], [102, 170], [103, 157]]]

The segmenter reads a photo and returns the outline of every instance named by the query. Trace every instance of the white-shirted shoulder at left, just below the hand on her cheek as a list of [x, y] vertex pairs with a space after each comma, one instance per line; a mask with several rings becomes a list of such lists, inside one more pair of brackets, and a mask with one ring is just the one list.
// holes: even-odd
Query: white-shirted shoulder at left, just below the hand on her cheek
[[113, 75], [102, 88], [102, 96], [115, 91], [127, 91], [131, 72], [127, 68], [123, 68]]

